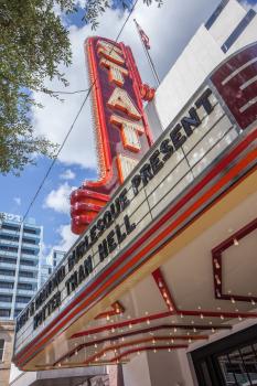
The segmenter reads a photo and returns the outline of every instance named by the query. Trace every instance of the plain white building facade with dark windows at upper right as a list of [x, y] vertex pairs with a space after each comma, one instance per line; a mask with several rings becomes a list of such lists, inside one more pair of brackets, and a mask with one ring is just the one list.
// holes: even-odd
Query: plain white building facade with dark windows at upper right
[[202, 24], [147, 106], [156, 138], [175, 118], [212, 71], [227, 56], [257, 40], [257, 17], [237, 0], [223, 0]]

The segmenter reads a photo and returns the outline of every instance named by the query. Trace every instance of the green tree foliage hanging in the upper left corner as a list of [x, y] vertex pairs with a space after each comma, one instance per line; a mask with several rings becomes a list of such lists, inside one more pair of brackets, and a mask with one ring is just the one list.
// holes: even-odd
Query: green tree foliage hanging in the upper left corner
[[[148, 6], [161, 0], [143, 0]], [[33, 92], [46, 78], [67, 85], [60, 64], [71, 64], [68, 31], [55, 12], [76, 12], [77, 0], [0, 0], [0, 173], [19, 172], [34, 153], [53, 157], [56, 146], [36, 137], [31, 122]], [[96, 28], [109, 7], [130, 8], [133, 0], [87, 0], [85, 23]], [[39, 106], [40, 107], [40, 106]]]

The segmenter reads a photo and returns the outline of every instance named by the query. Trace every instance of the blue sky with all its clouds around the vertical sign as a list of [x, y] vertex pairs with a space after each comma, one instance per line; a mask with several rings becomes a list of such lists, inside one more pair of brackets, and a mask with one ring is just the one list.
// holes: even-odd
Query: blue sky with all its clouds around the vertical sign
[[[130, 2], [130, 0], [127, 1]], [[164, 6], [159, 10], [156, 4], [148, 8], [142, 4], [142, 0], [139, 0], [131, 21], [120, 39], [132, 47], [139, 69], [143, 74], [143, 81], [151, 85], [154, 83], [146, 64], [132, 19], [136, 17], [149, 35], [151, 54], [160, 77], [163, 78], [193, 33], [211, 15], [219, 0], [164, 0], [163, 2]], [[115, 7], [100, 18], [97, 34], [109, 39], [116, 37], [127, 17], [127, 13], [117, 9], [118, 3], [119, 1], [115, 0]], [[248, 3], [257, 4], [257, 0], [248, 0]], [[71, 68], [64, 68], [66, 78], [69, 81], [69, 90], [88, 87], [83, 42], [92, 31], [82, 18], [82, 9], [78, 13], [64, 18], [73, 49], [73, 65]], [[63, 89], [57, 81], [49, 82], [47, 86], [51, 89]], [[62, 104], [44, 95], [35, 95], [35, 98], [45, 106], [44, 109], [32, 111], [35, 132], [62, 143], [84, 95], [67, 96]], [[0, 176], [2, 186], [0, 212], [23, 215], [50, 163], [51, 160], [39, 158], [36, 167], [28, 165], [18, 178], [12, 174]], [[92, 116], [88, 105], [85, 106], [61, 153], [60, 161], [52, 169], [28, 216], [35, 218], [36, 224], [44, 227], [45, 255], [53, 246], [67, 248], [74, 240], [69, 232], [68, 194], [73, 186], [79, 186], [84, 180], [95, 179], [96, 175]]]

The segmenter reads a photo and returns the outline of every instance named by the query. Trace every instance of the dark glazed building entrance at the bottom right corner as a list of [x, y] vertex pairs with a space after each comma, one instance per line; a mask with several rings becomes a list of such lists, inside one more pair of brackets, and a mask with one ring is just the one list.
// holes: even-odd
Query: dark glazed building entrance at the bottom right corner
[[257, 385], [257, 326], [192, 353], [200, 386]]

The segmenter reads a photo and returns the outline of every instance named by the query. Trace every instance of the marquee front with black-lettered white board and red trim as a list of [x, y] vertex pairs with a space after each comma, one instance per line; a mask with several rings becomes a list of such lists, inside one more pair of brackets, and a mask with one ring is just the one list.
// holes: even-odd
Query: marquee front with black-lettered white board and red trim
[[[244, 62], [237, 64], [236, 74], [239, 74], [239, 65], [244, 67], [246, 63], [253, 61], [253, 54], [256, 55], [256, 45], [254, 47], [255, 50], [253, 46], [244, 50]], [[135, 260], [135, 265], [130, 264], [125, 277], [119, 275], [117, 282], [109, 285], [116, 269], [121, 270], [126, 261], [133, 261], [137, 256], [135, 250], [151, 244], [152, 229], [159, 232], [161, 226], [164, 227], [169, 223], [163, 218], [168, 211], [176, 206], [178, 197], [182, 196], [181, 201], [183, 201], [184, 192], [195, 181], [201, 185], [204, 173], [207, 171], [210, 175], [212, 174], [213, 164], [215, 167], [217, 158], [222, 159], [224, 150], [237, 146], [245, 151], [247, 146], [251, 146], [251, 141], [256, 138], [254, 125], [256, 125], [257, 104], [249, 104], [244, 96], [242, 100], [242, 106], [245, 106], [244, 117], [247, 106], [253, 111], [254, 105], [256, 112], [251, 115], [251, 120], [246, 127], [239, 125], [233, 110], [236, 107], [228, 109], [223, 95], [213, 85], [216, 74], [224, 67], [229, 67], [229, 61], [238, 56], [234, 55], [225, 62], [195, 93], [128, 175], [105, 210], [79, 237], [57, 271], [21, 313], [17, 323], [14, 347], [14, 361], [20, 367], [24, 366], [34, 350], [40, 350], [41, 341], [45, 342], [53, 337], [61, 325], [68, 328], [95, 302], [105, 297], [108, 293], [107, 290], [111, 291], [114, 288], [111, 286], [117, 286], [125, 280], [125, 277], [132, 275], [136, 261], [143, 264], [150, 258], [153, 249], [148, 254], [144, 253], [139, 261]], [[117, 61], [118, 58], [119, 56]], [[231, 66], [231, 73], [234, 67]], [[240, 79], [242, 84], [248, 82], [247, 78], [240, 77]], [[257, 95], [257, 86], [254, 87]], [[231, 93], [233, 94], [233, 88]], [[253, 93], [249, 94], [249, 98], [251, 96]], [[245, 138], [246, 136], [248, 137]], [[240, 146], [240, 141], [244, 141], [244, 146]], [[237, 154], [235, 151], [234, 153]], [[238, 154], [242, 157], [240, 153]], [[226, 170], [233, 168], [233, 162], [232, 158]], [[249, 167], [253, 162], [256, 162], [256, 159], [249, 161]], [[221, 170], [221, 173], [226, 170]], [[213, 178], [216, 179], [217, 174], [213, 174]], [[233, 179], [235, 182], [234, 175]], [[203, 191], [210, 181], [202, 184]], [[186, 206], [194, 195], [186, 199], [183, 205]], [[176, 216], [174, 212], [172, 218], [175, 221]], [[158, 222], [162, 224], [159, 227], [157, 227]], [[186, 222], [190, 222], [190, 216], [184, 218], [181, 226]], [[165, 237], [171, 235], [172, 233], [169, 232]], [[165, 238], [159, 240], [159, 243], [164, 242]], [[101, 287], [104, 289], [99, 290], [98, 288]]]

